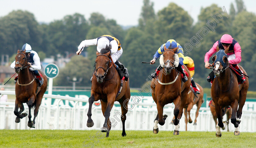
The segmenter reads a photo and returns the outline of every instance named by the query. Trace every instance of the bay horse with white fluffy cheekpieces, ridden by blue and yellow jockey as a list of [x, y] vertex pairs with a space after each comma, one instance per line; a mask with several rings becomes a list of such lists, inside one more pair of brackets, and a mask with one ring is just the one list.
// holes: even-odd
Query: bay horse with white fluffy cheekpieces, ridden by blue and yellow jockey
[[179, 60], [178, 55], [175, 54], [177, 49], [178, 47], [175, 49], [166, 49], [164, 46], [165, 52], [162, 55], [162, 62], [164, 64], [161, 64], [164, 68], [158, 73], [159, 78], [152, 79], [151, 81], [152, 97], [157, 105], [158, 111], [154, 120], [153, 133], [155, 134], [159, 131], [157, 124], [165, 124], [167, 115], [163, 115], [163, 107], [169, 103], [174, 103], [175, 105], [173, 112], [175, 116], [175, 119], [173, 119], [175, 130], [173, 135], [180, 134], [179, 122], [187, 101], [191, 80], [190, 72], [186, 66], [184, 66], [184, 70], [188, 73], [188, 81], [185, 83], [182, 82], [181, 74], [175, 69], [175, 63]]

